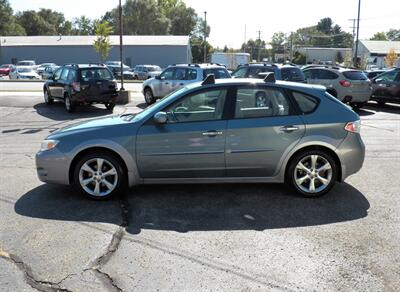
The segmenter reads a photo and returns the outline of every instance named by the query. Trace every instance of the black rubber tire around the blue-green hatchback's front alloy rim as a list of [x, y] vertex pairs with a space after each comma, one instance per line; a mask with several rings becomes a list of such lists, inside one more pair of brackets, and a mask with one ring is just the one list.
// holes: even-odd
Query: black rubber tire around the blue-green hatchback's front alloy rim
[[[97, 166], [97, 159], [103, 159], [102, 163], [102, 170], [101, 172], [97, 172], [98, 170], [96, 169], [95, 166]], [[94, 161], [93, 161], [94, 160]], [[92, 162], [93, 161], [93, 162]], [[91, 166], [91, 169], [94, 170], [94, 173], [96, 172], [95, 175], [92, 177], [86, 176], [87, 173], [85, 170], [82, 170], [81, 173], [81, 168], [84, 164], [87, 164]], [[111, 168], [108, 168], [109, 165], [112, 165], [116, 171], [116, 177], [114, 175], [107, 176], [107, 182], [114, 185], [114, 189], [112, 189], [111, 192], [107, 193], [107, 186], [104, 184], [102, 181], [97, 181], [99, 184], [99, 195], [94, 195], [93, 192], [95, 192], [96, 189], [96, 179], [99, 178], [99, 176], [102, 176], [104, 173], [109, 171]], [[96, 176], [96, 178], [95, 178]], [[112, 178], [111, 178], [112, 176]], [[92, 179], [93, 181], [88, 183], [86, 185], [87, 189], [89, 191], [92, 191], [92, 193], [88, 192], [85, 190], [85, 188], [82, 186], [80, 178], [83, 180], [85, 179]], [[116, 179], [116, 182], [113, 181], [113, 179]], [[102, 179], [104, 180], [104, 179]], [[105, 151], [96, 151], [95, 153], [89, 153], [84, 156], [82, 156], [78, 162], [75, 164], [74, 169], [73, 169], [73, 187], [77, 189], [81, 194], [84, 196], [93, 199], [93, 200], [107, 200], [117, 194], [122, 193], [125, 188], [126, 188], [126, 174], [124, 171], [124, 168], [122, 166], [122, 162], [114, 155], [105, 152]], [[109, 189], [108, 189], [109, 190]], [[103, 191], [103, 194], [101, 193]]]

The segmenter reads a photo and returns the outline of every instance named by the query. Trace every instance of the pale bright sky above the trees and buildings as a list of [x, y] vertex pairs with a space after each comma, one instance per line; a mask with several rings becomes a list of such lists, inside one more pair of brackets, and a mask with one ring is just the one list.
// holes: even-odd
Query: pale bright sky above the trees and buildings
[[[9, 0], [14, 11], [49, 8], [63, 12], [67, 19], [82, 14], [98, 18], [114, 8], [118, 0]], [[125, 1], [122, 0], [122, 3]], [[344, 31], [352, 33], [358, 0], [184, 0], [200, 16], [207, 11], [211, 26], [209, 42], [214, 47], [239, 48], [244, 40], [267, 42], [274, 32], [290, 33], [330, 17]], [[378, 31], [400, 29], [400, 0], [361, 0], [360, 39]]]

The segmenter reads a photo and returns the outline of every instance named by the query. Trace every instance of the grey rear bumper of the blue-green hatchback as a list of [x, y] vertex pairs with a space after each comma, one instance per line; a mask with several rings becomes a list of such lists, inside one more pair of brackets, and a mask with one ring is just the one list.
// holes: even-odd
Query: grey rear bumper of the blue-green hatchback
[[336, 153], [342, 165], [341, 181], [344, 181], [349, 175], [359, 171], [364, 163], [365, 145], [360, 134], [348, 133]]

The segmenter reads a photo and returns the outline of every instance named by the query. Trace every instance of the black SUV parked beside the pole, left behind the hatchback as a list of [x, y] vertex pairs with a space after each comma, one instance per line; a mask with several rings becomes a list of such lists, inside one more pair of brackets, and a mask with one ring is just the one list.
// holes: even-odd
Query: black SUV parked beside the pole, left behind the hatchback
[[61, 66], [43, 86], [44, 101], [64, 101], [73, 112], [78, 104], [103, 103], [110, 111], [118, 97], [117, 82], [102, 64], [66, 64]]

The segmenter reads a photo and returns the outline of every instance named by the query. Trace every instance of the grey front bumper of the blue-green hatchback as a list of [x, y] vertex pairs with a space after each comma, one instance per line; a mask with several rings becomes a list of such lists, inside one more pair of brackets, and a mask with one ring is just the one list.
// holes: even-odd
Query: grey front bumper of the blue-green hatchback
[[43, 182], [69, 184], [68, 159], [57, 148], [36, 154], [36, 171]]

